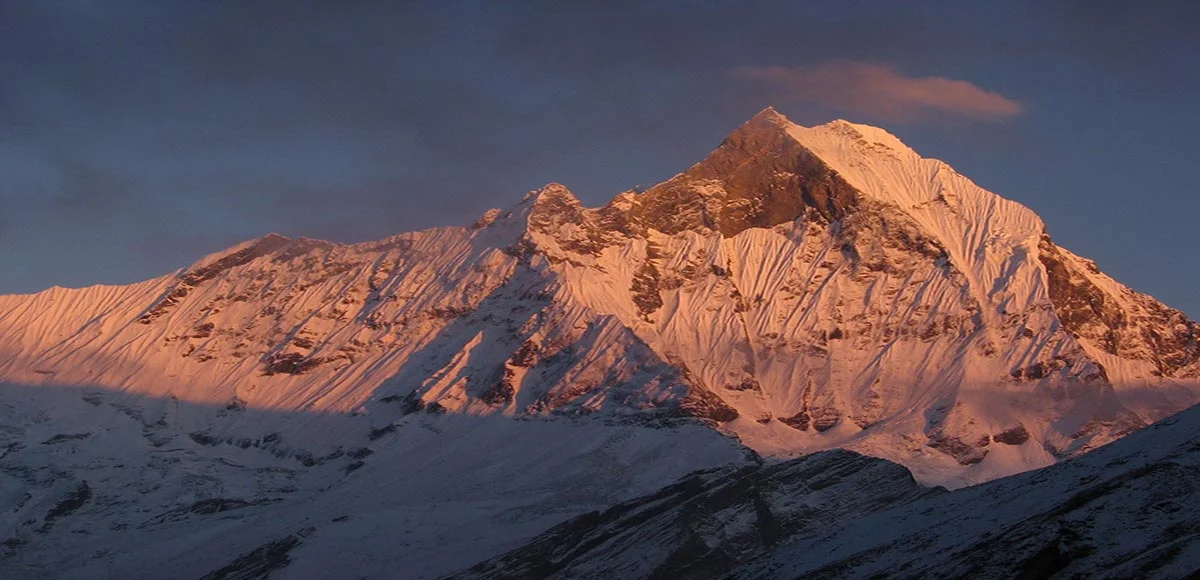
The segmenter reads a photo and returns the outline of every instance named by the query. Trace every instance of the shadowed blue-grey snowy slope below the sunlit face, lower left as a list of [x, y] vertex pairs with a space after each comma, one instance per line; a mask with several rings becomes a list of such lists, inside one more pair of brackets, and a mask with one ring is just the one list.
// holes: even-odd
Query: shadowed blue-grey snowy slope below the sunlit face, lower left
[[421, 412], [379, 430], [353, 414], [2, 384], [0, 570], [437, 578], [749, 460], [697, 425]]

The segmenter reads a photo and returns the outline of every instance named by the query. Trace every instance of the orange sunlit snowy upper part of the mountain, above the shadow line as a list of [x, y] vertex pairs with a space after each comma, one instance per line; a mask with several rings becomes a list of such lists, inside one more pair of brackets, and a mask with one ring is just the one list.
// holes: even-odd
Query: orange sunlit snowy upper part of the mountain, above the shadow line
[[[880, 128], [767, 109], [643, 193], [470, 227], [268, 235], [0, 297], [0, 378], [250, 408], [702, 420], [928, 483], [1049, 465], [1198, 401], [1195, 324]], [[1020, 424], [1026, 438], [992, 436]]]

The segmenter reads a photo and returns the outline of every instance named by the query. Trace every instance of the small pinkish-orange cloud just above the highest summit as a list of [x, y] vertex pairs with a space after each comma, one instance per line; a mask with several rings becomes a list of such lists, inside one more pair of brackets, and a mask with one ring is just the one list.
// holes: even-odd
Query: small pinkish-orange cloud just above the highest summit
[[884, 121], [911, 122], [930, 114], [996, 121], [1024, 112], [1016, 101], [966, 80], [906, 77], [895, 68], [870, 62], [740, 67], [736, 73], [775, 85], [785, 91], [785, 98], [815, 102]]

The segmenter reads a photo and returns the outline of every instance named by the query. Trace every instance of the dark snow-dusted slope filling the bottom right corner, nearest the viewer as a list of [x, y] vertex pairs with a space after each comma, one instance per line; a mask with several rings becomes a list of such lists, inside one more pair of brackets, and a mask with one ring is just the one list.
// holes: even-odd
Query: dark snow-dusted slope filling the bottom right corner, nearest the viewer
[[797, 537], [730, 579], [1195, 578], [1200, 407], [1034, 472]]

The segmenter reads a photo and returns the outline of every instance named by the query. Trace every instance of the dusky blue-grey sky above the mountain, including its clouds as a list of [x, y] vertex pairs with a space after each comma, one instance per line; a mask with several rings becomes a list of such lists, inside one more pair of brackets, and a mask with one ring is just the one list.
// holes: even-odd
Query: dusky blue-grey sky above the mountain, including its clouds
[[887, 128], [1200, 317], [1200, 2], [0, 0], [0, 293], [601, 204], [766, 106]]

